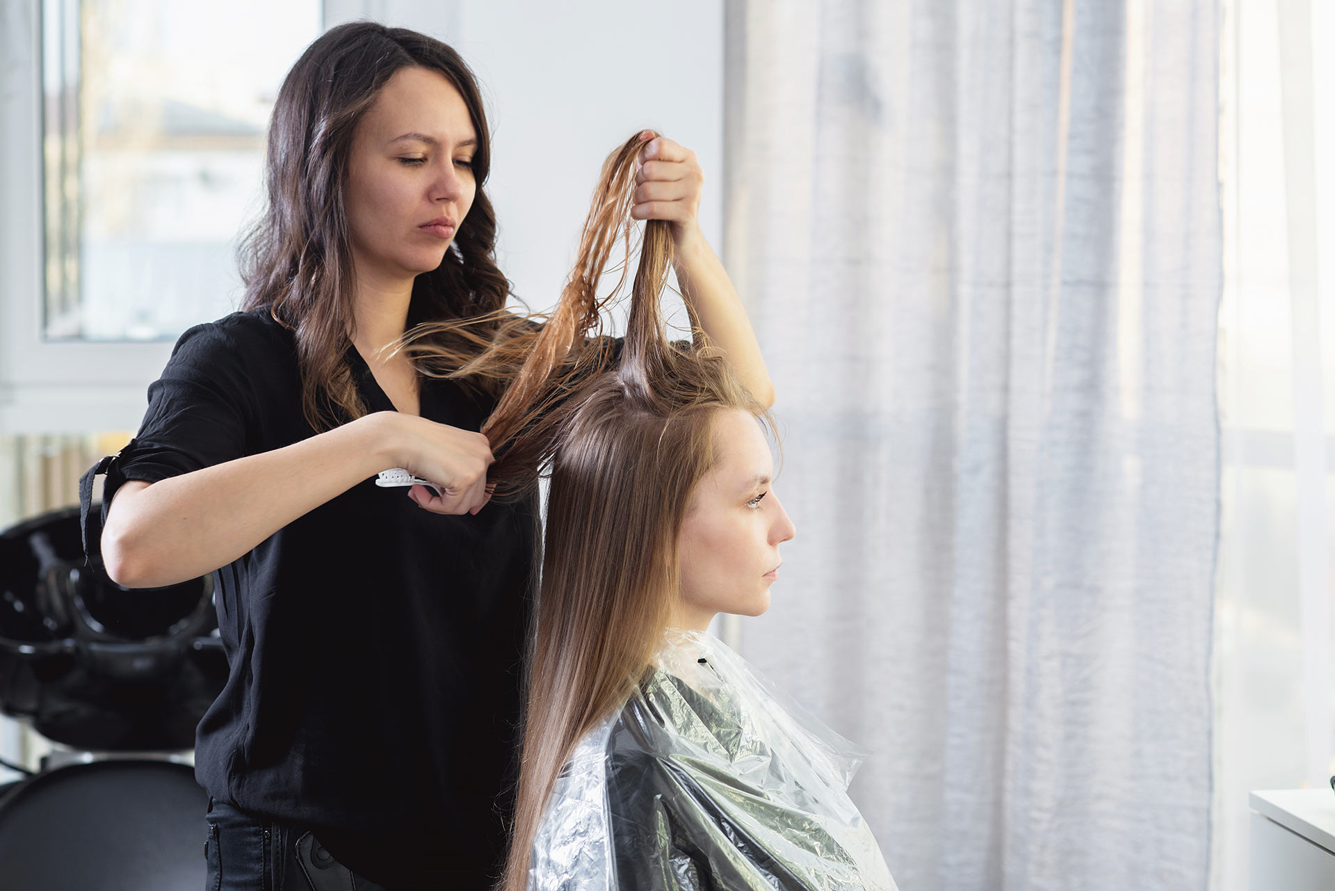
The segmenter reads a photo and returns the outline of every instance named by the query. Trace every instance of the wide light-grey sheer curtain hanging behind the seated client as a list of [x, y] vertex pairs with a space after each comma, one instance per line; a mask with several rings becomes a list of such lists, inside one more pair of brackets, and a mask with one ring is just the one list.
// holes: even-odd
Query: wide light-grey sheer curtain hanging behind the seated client
[[1204, 888], [1206, 0], [729, 7], [728, 260], [797, 524], [744, 653], [905, 890]]

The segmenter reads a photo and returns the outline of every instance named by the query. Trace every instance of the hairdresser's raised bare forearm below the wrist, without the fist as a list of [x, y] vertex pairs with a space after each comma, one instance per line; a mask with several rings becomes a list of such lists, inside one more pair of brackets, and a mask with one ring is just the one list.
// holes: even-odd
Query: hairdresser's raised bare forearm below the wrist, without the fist
[[700, 234], [678, 240], [673, 264], [682, 298], [690, 301], [700, 327], [724, 350], [750, 394], [765, 405], [774, 405], [774, 383], [765, 369], [746, 307], [709, 242]]

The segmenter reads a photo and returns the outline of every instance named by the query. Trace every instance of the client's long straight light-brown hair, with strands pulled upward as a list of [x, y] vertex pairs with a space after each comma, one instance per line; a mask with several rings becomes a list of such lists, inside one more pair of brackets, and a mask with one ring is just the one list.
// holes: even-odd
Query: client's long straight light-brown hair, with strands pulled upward
[[[549, 322], [505, 322], [486, 334], [493, 339], [477, 358], [437, 369], [510, 382], [483, 426], [498, 454], [493, 481], [518, 493], [539, 468], [550, 473], [503, 891], [526, 884], [543, 807], [575, 744], [650, 668], [677, 592], [682, 520], [717, 460], [713, 418], [744, 409], [770, 422], [694, 315], [693, 342], [669, 341], [659, 306], [673, 250], [666, 222], [645, 224], [619, 362], [605, 339], [590, 338], [606, 302], [594, 298], [598, 279], [618, 236], [627, 238], [630, 262], [639, 146], [637, 135], [607, 158], [575, 269]], [[445, 367], [466, 358], [430, 345], [414, 355]]]

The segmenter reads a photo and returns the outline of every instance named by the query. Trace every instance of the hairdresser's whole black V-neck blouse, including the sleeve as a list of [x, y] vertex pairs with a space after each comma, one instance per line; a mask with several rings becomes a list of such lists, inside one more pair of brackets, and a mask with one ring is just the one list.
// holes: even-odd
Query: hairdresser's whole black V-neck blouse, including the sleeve
[[[347, 361], [368, 409], [392, 411], [355, 347]], [[478, 430], [491, 409], [422, 382], [431, 421]], [[292, 334], [234, 313], [182, 334], [104, 504], [123, 480], [311, 435]], [[244, 811], [314, 827], [372, 882], [482, 888], [513, 808], [537, 500], [441, 516], [406, 493], [363, 480], [216, 572], [231, 676], [199, 724], [195, 773]]]

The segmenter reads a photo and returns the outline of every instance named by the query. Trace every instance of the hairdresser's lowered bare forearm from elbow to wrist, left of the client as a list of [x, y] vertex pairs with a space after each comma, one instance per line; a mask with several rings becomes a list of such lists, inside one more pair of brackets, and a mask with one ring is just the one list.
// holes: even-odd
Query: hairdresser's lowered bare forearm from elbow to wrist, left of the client
[[107, 572], [128, 588], [203, 576], [391, 465], [391, 431], [367, 415], [282, 449], [127, 485], [107, 513]]

